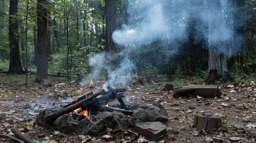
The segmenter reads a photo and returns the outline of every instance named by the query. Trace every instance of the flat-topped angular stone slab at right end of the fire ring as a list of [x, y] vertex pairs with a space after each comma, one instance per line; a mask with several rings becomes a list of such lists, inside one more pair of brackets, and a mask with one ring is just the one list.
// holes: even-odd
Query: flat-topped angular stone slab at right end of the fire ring
[[158, 139], [167, 132], [166, 126], [161, 122], [143, 122], [135, 125], [135, 130], [148, 139]]

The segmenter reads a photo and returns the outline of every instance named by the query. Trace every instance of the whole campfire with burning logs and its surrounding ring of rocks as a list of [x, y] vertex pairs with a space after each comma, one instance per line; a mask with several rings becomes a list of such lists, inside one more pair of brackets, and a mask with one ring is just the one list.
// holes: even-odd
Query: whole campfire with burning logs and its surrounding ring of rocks
[[[48, 108], [41, 111], [36, 118], [38, 124], [47, 128], [54, 127], [54, 129], [64, 133], [102, 135], [106, 132], [126, 132], [128, 127], [135, 127], [139, 132], [146, 132], [143, 129], [144, 125], [139, 123], [152, 122], [152, 126], [162, 126], [161, 122], [168, 120], [165, 108], [159, 103], [153, 103], [151, 106], [144, 104], [127, 105], [122, 100], [125, 97], [125, 88], [114, 89], [107, 86], [106, 90], [101, 89], [94, 93], [88, 90], [92, 85], [91, 80], [89, 85], [81, 89], [87, 91], [87, 94], [81, 95], [63, 107]], [[110, 104], [115, 100], [118, 104], [116, 102]], [[165, 126], [155, 130], [161, 132], [145, 136], [153, 139], [166, 132]], [[162, 130], [164, 131], [162, 132]], [[141, 134], [143, 135], [143, 133]]]

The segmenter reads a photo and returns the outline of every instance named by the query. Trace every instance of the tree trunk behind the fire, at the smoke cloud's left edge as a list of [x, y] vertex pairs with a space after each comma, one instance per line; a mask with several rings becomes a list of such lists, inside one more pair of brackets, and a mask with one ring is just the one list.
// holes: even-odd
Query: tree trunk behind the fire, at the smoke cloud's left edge
[[106, 49], [112, 59], [112, 69], [115, 68], [115, 43], [112, 39], [112, 33], [116, 29], [115, 23], [115, 0], [105, 0], [106, 7]]

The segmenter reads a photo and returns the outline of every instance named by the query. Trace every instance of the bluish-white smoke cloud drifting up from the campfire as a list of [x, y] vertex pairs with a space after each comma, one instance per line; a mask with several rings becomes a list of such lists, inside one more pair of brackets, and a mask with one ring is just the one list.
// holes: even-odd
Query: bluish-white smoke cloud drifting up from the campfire
[[[198, 3], [197, 3], [198, 2]], [[200, 39], [208, 39], [208, 10], [204, 3], [194, 0], [129, 0], [128, 24], [122, 25], [121, 29], [112, 34], [113, 41], [121, 47], [116, 61], [119, 66], [114, 71], [110, 69], [110, 55], [103, 53], [90, 59], [90, 66], [94, 67], [92, 76], [107, 71], [108, 81], [106, 85], [124, 86], [127, 76], [135, 73], [135, 63], [147, 60], [156, 61], [161, 56], [171, 57], [181, 52], [184, 43], [188, 39], [188, 23], [190, 19], [200, 22], [195, 26], [195, 42]], [[223, 39], [231, 41], [233, 38], [232, 27], [220, 27], [223, 31]], [[215, 35], [218, 36], [218, 35]], [[158, 41], [158, 49], [152, 43]], [[151, 45], [150, 45], [151, 44]], [[219, 48], [220, 53], [234, 54], [232, 47], [229, 49]], [[236, 49], [238, 51], [238, 49]], [[156, 54], [160, 53], [160, 54]], [[155, 57], [154, 57], [155, 56]], [[149, 61], [151, 62], [151, 61]]]

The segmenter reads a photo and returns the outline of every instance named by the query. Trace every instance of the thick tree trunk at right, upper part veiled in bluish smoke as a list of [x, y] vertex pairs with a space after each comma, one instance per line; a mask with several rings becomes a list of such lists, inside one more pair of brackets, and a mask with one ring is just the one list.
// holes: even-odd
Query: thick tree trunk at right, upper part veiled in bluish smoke
[[219, 77], [223, 80], [230, 80], [229, 70], [227, 69], [227, 48], [230, 46], [224, 39], [222, 5], [220, 0], [207, 1], [209, 8], [209, 75], [206, 83], [215, 82]]

